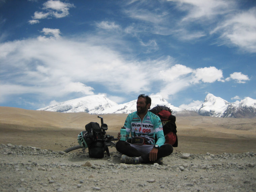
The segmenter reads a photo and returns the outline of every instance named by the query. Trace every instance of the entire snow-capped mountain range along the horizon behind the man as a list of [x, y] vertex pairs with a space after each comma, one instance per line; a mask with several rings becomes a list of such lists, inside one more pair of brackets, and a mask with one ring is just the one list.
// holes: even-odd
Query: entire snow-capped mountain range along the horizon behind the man
[[[176, 116], [212, 116], [231, 118], [256, 117], [256, 100], [246, 97], [241, 101], [230, 103], [213, 94], [207, 94], [204, 102], [199, 106], [182, 109], [168, 103], [161, 95], [152, 95], [151, 108], [156, 105], [165, 105], [173, 110]], [[91, 95], [72, 99], [43, 107], [37, 110], [57, 111], [63, 113], [86, 112], [90, 114], [129, 114], [136, 111], [137, 99], [128, 103], [117, 104], [104, 95]]]

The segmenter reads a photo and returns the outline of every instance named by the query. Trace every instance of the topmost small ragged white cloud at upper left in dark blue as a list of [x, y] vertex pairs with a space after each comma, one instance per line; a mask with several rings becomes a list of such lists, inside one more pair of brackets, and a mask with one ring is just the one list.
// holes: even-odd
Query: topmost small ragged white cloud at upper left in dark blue
[[40, 19], [63, 18], [69, 15], [69, 8], [73, 8], [71, 3], [65, 3], [59, 0], [49, 0], [43, 3], [42, 9], [45, 11], [35, 11], [30, 20], [30, 24], [39, 23]]

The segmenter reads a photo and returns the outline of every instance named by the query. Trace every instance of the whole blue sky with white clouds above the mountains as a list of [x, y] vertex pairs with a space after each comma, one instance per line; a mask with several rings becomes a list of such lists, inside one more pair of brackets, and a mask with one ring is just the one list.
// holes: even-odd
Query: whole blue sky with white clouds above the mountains
[[256, 1], [0, 0], [0, 106], [256, 99]]

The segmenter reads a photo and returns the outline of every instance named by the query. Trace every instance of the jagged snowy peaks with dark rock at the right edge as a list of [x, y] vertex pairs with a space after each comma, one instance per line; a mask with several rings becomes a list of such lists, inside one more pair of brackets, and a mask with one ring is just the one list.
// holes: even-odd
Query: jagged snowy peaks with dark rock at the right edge
[[230, 103], [213, 94], [207, 94], [198, 110], [202, 116], [254, 118], [256, 117], [256, 100], [250, 97]]

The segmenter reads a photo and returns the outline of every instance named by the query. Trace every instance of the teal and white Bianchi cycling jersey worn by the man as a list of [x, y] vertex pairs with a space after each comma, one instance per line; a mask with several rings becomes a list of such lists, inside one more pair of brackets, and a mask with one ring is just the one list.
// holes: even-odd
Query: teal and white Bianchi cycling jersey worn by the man
[[124, 127], [126, 134], [131, 137], [144, 137], [151, 145], [155, 145], [155, 135], [157, 136], [156, 144], [162, 146], [165, 142], [163, 126], [160, 118], [148, 111], [143, 120], [139, 118], [137, 111], [129, 114], [125, 120]]

